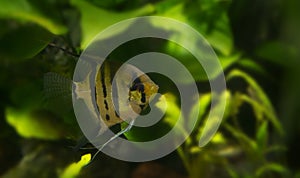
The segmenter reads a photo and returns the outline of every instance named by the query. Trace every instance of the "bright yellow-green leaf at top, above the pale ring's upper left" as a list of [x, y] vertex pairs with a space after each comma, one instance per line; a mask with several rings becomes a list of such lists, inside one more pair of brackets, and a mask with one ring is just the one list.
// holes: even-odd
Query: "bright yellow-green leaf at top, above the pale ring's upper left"
[[[121, 13], [107, 11], [82, 0], [71, 0], [71, 4], [81, 12], [82, 48], [85, 48], [98, 33], [111, 25], [122, 20], [154, 12], [154, 7], [150, 4], [136, 10]], [[119, 29], [118, 32], [123, 30], [125, 29]]]

